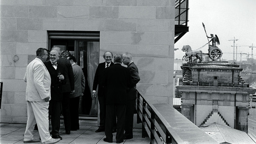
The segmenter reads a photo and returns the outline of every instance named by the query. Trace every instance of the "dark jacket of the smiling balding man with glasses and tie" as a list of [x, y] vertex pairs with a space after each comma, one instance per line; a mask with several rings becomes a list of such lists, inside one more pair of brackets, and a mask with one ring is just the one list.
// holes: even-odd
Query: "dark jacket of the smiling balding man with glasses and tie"
[[[104, 69], [105, 69], [105, 63], [99, 63], [96, 72], [95, 72], [95, 76], [94, 76], [94, 80], [93, 80], [93, 90], [97, 89], [98, 86], [98, 96], [103, 96], [103, 86], [102, 86], [102, 82], [103, 82], [103, 75], [104, 75]], [[114, 63], [111, 62], [110, 66], [113, 66]]]

